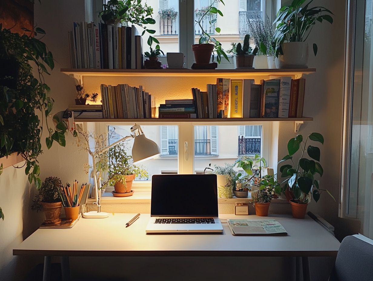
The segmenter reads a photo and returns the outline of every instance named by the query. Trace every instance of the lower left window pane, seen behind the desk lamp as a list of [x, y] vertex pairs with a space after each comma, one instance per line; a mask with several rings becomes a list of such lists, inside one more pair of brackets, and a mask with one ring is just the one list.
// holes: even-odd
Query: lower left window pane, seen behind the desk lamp
[[[131, 134], [130, 125], [111, 125], [109, 126], [109, 144], [114, 143], [120, 138]], [[161, 156], [155, 159], [149, 159], [141, 162], [144, 169], [149, 174], [148, 179], [139, 179], [138, 181], [151, 180], [155, 174], [177, 174], [178, 173], [178, 126], [141, 126], [145, 136], [155, 141], [161, 150]], [[128, 146], [128, 154], [131, 155], [134, 140], [125, 141]]]

